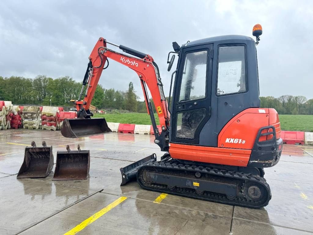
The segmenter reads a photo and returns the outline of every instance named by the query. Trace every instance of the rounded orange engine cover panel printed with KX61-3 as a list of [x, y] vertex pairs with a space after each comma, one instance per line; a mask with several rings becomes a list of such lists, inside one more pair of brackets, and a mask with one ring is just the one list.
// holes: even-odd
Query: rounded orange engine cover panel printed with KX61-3
[[218, 147], [252, 149], [259, 129], [268, 125], [268, 108], [248, 108], [224, 126], [218, 135]]

